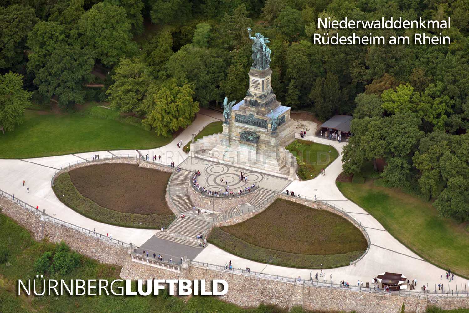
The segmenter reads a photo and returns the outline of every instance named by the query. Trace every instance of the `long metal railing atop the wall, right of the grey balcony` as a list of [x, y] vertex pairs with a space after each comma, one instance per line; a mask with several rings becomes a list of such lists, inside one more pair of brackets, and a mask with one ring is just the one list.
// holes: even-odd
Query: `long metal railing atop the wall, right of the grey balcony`
[[[457, 284], [454, 283], [453, 289], [451, 291], [435, 291], [430, 292], [430, 289], [428, 288], [428, 285], [426, 286], [426, 291], [411, 291], [411, 290], [400, 290], [400, 291], [384, 291], [384, 289], [378, 289], [376, 285], [373, 283], [369, 284], [369, 287], [364, 287], [362, 284], [358, 285], [353, 285], [352, 283], [347, 283], [345, 285], [342, 285], [341, 283], [334, 283], [333, 282], [333, 276], [332, 274], [327, 274], [326, 271], [323, 271], [322, 276], [320, 275], [319, 272], [317, 272], [317, 277], [316, 275], [313, 276], [312, 271], [310, 271], [310, 277], [309, 279], [304, 279], [301, 277], [288, 277], [288, 276], [281, 276], [281, 275], [274, 275], [274, 274], [269, 274], [269, 273], [261, 273], [261, 272], [256, 272], [252, 270], [246, 270], [242, 268], [232, 268], [231, 270], [227, 268], [225, 265], [217, 265], [217, 264], [212, 264], [212, 263], [205, 263], [205, 262], [199, 262], [199, 261], [190, 261], [191, 266], [198, 266], [198, 267], [203, 267], [203, 268], [208, 268], [211, 270], [215, 271], [220, 271], [220, 272], [226, 272], [226, 273], [234, 273], [237, 275], [242, 275], [242, 276], [251, 276], [251, 277], [258, 277], [262, 279], [269, 279], [269, 280], [274, 280], [274, 281], [279, 281], [279, 282], [286, 282], [286, 283], [298, 283], [302, 284], [305, 286], [315, 286], [315, 287], [325, 287], [325, 288], [337, 288], [337, 289], [347, 289], [350, 291], [367, 291], [367, 292], [376, 292], [376, 293], [385, 293], [385, 294], [390, 294], [390, 295], [401, 295], [401, 296], [423, 296], [423, 297], [441, 297], [441, 296], [446, 296], [446, 297], [451, 297], [451, 296], [456, 296], [456, 297], [469, 297], [469, 293], [467, 289], [462, 289], [461, 284], [461, 289], [457, 288]], [[341, 280], [340, 280], [341, 281]], [[450, 289], [451, 285], [448, 284], [448, 290]], [[454, 291], [456, 289], [456, 291]]]

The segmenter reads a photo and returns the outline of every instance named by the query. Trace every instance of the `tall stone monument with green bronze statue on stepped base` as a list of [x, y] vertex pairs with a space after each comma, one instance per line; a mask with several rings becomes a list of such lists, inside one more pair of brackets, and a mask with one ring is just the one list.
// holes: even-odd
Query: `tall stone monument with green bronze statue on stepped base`
[[285, 149], [295, 140], [290, 108], [273, 93], [268, 38], [250, 38], [254, 63], [246, 97], [236, 104], [225, 98], [223, 132], [193, 141], [189, 155], [294, 180], [296, 158]]

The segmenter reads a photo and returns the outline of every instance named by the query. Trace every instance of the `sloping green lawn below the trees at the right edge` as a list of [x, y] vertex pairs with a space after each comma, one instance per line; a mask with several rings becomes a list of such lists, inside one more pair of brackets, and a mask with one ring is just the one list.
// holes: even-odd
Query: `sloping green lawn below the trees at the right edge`
[[422, 258], [469, 277], [469, 233], [464, 225], [438, 216], [431, 202], [398, 189], [377, 186], [379, 182], [366, 179], [362, 184], [337, 182], [337, 186]]

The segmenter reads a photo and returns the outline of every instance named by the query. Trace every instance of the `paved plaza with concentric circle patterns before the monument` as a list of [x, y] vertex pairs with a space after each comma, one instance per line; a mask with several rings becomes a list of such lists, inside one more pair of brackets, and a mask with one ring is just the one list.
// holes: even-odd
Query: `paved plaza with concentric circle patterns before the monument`
[[[264, 189], [281, 191], [290, 184], [287, 179], [260, 173], [252, 170], [243, 170], [241, 167], [220, 164], [211, 159], [189, 157], [179, 165], [189, 171], [200, 171], [197, 182], [200, 186], [211, 191], [225, 192], [226, 187], [236, 191], [250, 187], [252, 184]], [[240, 175], [247, 178], [247, 182], [240, 180]], [[222, 181], [223, 180], [223, 181]]]

